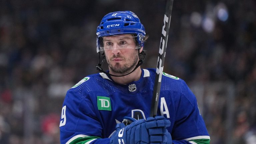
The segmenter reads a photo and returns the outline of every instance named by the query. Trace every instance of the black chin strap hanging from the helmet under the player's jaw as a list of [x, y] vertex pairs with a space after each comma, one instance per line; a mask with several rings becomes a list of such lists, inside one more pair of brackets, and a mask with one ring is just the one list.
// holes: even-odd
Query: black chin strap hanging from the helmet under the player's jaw
[[[134, 68], [130, 73], [134, 72], [140, 65], [143, 64], [143, 62], [144, 62], [144, 60], [145, 60], [145, 55], [146, 55], [146, 53], [145, 53], [144, 51], [142, 51], [142, 52], [140, 53], [140, 49], [138, 49], [138, 53], [139, 53], [139, 57], [140, 57], [140, 56], [143, 56], [143, 59], [140, 59], [140, 60], [138, 61], [137, 65], [135, 66], [135, 68]], [[103, 55], [104, 55], [104, 54], [103, 54]], [[107, 74], [107, 75], [114, 76], [114, 77], [122, 77], [122, 76], [126, 76], [126, 75], [130, 74], [130, 73], [128, 73], [128, 74], [125, 74], [125, 75], [112, 75], [112, 74], [110, 74], [110, 73], [104, 71], [101, 66], [102, 66], [103, 62], [105, 61], [106, 57], [105, 57], [105, 55], [104, 55], [104, 56], [103, 56], [103, 59], [102, 59], [102, 62], [100, 63], [100, 56], [101, 56], [101, 54], [99, 53], [99, 63], [98, 63], [98, 65], [96, 65], [96, 69], [99, 70], [100, 72], [103, 72], [103, 73], [105, 73], [105, 74]]]

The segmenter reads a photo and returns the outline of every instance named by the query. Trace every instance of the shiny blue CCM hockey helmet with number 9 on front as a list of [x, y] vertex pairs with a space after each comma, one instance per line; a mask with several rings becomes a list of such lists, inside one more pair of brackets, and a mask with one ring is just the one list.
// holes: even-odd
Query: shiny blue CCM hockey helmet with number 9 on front
[[120, 34], [133, 34], [138, 46], [144, 45], [146, 35], [138, 16], [131, 11], [117, 11], [105, 15], [97, 27], [97, 52], [103, 51], [102, 37]]

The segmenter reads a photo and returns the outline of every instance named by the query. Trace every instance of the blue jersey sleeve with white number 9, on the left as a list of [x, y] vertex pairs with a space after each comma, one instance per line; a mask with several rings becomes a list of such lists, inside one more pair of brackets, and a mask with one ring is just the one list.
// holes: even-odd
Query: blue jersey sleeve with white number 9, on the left
[[91, 101], [81, 98], [70, 89], [63, 102], [60, 120], [61, 144], [108, 144], [109, 138], [102, 138], [102, 126], [97, 119]]

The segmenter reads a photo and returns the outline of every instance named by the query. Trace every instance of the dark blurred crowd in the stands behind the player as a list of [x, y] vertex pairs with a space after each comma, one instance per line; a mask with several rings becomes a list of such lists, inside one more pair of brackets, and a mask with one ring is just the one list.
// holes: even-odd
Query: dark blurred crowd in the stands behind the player
[[[138, 15], [149, 35], [142, 68], [155, 68], [164, 9], [165, 0], [0, 0], [0, 144], [59, 143], [66, 91], [97, 73], [96, 27], [109, 12]], [[255, 9], [253, 0], [174, 0], [164, 71], [189, 86], [233, 86], [233, 101], [229, 91], [204, 98], [211, 144], [256, 143]]]

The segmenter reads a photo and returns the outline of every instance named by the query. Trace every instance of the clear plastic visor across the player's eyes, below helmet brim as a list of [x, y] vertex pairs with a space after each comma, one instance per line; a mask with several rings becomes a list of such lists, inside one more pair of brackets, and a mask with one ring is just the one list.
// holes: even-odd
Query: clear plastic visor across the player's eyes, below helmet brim
[[132, 34], [121, 34], [101, 37], [99, 51], [114, 49], [139, 49], [140, 46], [136, 42], [137, 36]]

